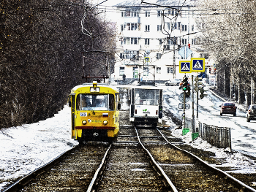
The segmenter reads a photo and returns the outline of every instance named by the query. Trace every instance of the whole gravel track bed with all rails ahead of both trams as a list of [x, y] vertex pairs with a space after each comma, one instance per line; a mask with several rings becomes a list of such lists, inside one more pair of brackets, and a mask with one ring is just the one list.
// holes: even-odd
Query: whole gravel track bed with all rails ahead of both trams
[[157, 128], [123, 126], [112, 145], [75, 147], [6, 191], [256, 190], [176, 147]]

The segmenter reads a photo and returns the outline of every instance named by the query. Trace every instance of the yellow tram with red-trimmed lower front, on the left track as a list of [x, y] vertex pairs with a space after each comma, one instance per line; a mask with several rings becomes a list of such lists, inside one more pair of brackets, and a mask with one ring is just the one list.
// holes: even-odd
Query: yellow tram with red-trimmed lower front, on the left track
[[78, 85], [69, 94], [72, 139], [79, 143], [116, 139], [119, 131], [119, 92], [108, 85]]

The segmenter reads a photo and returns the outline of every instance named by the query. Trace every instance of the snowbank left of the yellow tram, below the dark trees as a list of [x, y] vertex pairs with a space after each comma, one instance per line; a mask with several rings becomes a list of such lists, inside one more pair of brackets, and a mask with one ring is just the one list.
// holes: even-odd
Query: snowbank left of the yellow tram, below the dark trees
[[53, 118], [0, 131], [0, 191], [78, 142], [71, 139], [70, 108]]

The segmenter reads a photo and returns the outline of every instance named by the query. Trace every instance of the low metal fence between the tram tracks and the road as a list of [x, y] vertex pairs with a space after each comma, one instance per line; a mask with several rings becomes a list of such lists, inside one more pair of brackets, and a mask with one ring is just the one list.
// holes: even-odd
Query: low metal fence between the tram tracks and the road
[[216, 147], [227, 148], [231, 150], [231, 130], [227, 127], [209, 126], [204, 123], [198, 124], [198, 134], [203, 140]]

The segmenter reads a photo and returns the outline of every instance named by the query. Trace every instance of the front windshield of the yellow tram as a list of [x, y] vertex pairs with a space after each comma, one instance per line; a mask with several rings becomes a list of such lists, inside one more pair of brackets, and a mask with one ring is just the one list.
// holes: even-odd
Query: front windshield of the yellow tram
[[114, 110], [115, 99], [112, 94], [86, 94], [77, 96], [77, 110]]

